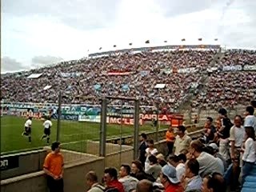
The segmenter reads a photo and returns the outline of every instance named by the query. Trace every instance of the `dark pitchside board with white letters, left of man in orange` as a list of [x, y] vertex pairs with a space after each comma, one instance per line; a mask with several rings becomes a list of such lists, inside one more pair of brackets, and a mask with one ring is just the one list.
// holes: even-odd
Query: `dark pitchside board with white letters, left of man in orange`
[[9, 158], [9, 164], [11, 163], [11, 158], [15, 158], [16, 156], [18, 159], [18, 167], [1, 170], [1, 179], [12, 178], [18, 175], [30, 174], [38, 170], [42, 170], [42, 164], [46, 158], [46, 153], [46, 150], [34, 150], [1, 156], [1, 160]]

